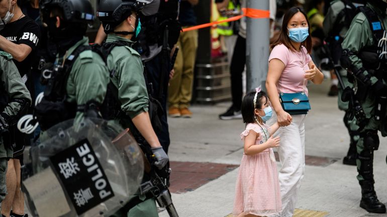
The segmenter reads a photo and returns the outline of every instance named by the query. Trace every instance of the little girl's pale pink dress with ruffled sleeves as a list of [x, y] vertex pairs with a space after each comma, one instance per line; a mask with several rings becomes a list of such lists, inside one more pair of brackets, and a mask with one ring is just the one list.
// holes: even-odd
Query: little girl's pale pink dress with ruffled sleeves
[[[267, 126], [247, 124], [241, 133], [243, 140], [254, 130], [259, 133], [255, 145], [260, 145], [268, 139]], [[235, 186], [234, 215], [246, 212], [255, 215], [270, 215], [281, 211], [281, 194], [278, 182], [277, 166], [272, 148], [255, 155], [243, 153], [241, 165]]]

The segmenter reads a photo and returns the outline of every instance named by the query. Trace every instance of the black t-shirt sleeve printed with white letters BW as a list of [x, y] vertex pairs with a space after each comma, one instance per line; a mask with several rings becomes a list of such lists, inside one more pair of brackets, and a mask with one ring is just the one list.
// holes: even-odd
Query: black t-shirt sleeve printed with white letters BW
[[39, 26], [33, 20], [28, 20], [28, 22], [26, 22], [24, 25], [24, 29], [19, 37], [19, 45], [28, 45], [32, 48], [32, 51], [35, 51], [40, 39]]

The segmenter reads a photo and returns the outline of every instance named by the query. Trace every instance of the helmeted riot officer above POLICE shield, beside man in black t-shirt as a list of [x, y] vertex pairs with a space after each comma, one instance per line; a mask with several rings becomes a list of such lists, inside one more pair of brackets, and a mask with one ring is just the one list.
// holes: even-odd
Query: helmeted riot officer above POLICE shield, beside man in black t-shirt
[[84, 36], [94, 19], [90, 2], [44, 0], [40, 8], [48, 36], [58, 52], [55, 63], [47, 64], [43, 70], [47, 87], [35, 110], [41, 129], [71, 118], [79, 121], [83, 116], [98, 117], [109, 73]]

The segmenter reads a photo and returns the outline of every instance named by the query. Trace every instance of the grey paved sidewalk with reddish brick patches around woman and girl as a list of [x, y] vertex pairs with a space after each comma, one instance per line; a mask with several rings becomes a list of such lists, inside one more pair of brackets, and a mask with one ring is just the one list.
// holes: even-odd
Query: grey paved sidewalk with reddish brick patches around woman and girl
[[[356, 167], [342, 164], [349, 146], [344, 112], [337, 97], [328, 97], [329, 82], [311, 85], [312, 110], [306, 121], [306, 174], [297, 208], [326, 211], [329, 217], [387, 216], [359, 207]], [[230, 103], [195, 105], [191, 119], [169, 118], [172, 168], [171, 191], [180, 217], [224, 217], [232, 212], [235, 180], [242, 158], [241, 120], [219, 120]], [[374, 156], [375, 188], [387, 203], [387, 138], [380, 139]], [[280, 166], [277, 163], [278, 168]], [[188, 187], [186, 187], [188, 186]], [[259, 196], [259, 195], [257, 195]], [[167, 217], [164, 210], [160, 217]], [[314, 215], [309, 215], [315, 217]]]

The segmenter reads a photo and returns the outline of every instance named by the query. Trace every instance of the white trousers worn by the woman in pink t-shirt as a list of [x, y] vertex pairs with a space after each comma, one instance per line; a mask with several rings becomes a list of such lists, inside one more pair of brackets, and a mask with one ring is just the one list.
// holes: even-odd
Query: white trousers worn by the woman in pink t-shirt
[[[281, 188], [282, 211], [273, 216], [291, 217], [296, 208], [297, 193], [305, 173], [305, 117], [293, 115], [293, 122], [280, 127], [274, 136], [281, 138], [277, 148], [281, 168], [279, 186]], [[271, 122], [277, 117], [273, 114]]]

